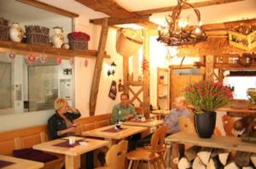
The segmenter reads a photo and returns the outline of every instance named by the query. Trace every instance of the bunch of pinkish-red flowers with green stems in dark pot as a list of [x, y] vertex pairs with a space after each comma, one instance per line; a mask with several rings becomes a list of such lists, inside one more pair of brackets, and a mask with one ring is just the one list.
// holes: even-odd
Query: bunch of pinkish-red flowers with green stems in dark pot
[[221, 82], [195, 82], [184, 90], [184, 97], [195, 107], [197, 113], [215, 111], [233, 98], [229, 87]]

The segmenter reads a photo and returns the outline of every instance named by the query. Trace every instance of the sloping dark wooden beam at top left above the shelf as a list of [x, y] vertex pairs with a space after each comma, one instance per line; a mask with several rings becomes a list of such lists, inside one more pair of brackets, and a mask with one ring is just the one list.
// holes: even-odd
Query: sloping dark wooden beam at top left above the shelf
[[55, 14], [61, 14], [70, 18], [76, 18], [79, 17], [79, 14], [74, 14], [72, 12], [69, 12], [67, 10], [64, 10], [62, 8], [56, 8], [52, 5], [49, 5], [47, 3], [42, 3], [36, 0], [17, 0], [20, 3], [26, 3], [27, 5], [36, 7], [36, 8], [42, 8], [44, 10], [47, 10], [49, 12], [55, 13]]

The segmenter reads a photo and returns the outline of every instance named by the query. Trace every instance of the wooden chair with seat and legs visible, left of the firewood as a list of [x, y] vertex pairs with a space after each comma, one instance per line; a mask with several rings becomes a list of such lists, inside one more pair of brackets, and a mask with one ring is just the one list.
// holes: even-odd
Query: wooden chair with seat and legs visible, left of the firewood
[[[157, 154], [156, 150], [158, 145], [160, 145], [160, 135], [161, 135], [161, 127], [157, 128], [151, 138], [150, 142], [150, 149], [136, 149], [129, 153], [127, 153], [126, 158], [130, 161], [129, 163], [129, 169], [131, 169], [133, 161], [135, 161], [135, 166], [133, 168], [137, 168], [139, 161], [147, 161], [148, 162], [148, 168], [150, 169], [150, 164], [154, 164], [154, 169], [157, 169], [157, 166], [160, 166], [159, 159], [160, 155]], [[160, 145], [162, 146], [162, 145]]]

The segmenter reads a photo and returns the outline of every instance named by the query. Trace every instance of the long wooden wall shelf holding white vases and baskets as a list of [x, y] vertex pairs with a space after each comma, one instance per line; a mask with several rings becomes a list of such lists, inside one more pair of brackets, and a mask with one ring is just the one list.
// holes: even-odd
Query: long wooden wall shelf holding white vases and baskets
[[[66, 58], [72, 58], [74, 56], [84, 57], [84, 58], [93, 58], [96, 59], [96, 50], [69, 50], [65, 48], [53, 48], [47, 45], [38, 45], [38, 44], [27, 44], [22, 42], [12, 42], [12, 41], [0, 41], [0, 52], [9, 52], [10, 50], [14, 51], [17, 54], [48, 54], [51, 56], [61, 56]], [[110, 58], [105, 52], [104, 58]]]

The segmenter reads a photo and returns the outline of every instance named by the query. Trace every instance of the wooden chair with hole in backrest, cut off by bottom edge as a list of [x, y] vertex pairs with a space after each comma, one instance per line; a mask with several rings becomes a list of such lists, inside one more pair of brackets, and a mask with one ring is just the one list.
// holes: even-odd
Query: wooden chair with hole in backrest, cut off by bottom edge
[[[128, 142], [122, 140], [108, 150], [106, 155], [107, 166], [97, 167], [96, 169], [121, 169], [125, 166], [125, 155], [127, 153]], [[122, 166], [123, 165], [123, 166]]]

